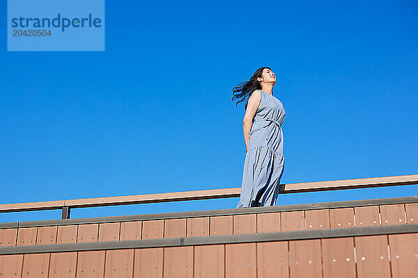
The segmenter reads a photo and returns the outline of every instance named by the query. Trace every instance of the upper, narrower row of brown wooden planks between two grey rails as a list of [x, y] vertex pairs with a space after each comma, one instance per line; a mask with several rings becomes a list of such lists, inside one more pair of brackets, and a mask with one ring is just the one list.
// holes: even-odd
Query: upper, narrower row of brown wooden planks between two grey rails
[[370, 227], [417, 222], [418, 203], [389, 204], [203, 218], [0, 229], [0, 247]]

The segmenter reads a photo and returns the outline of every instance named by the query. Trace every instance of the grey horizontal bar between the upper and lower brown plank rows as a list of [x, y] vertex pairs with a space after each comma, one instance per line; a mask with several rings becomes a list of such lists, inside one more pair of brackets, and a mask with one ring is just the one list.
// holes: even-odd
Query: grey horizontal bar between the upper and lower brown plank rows
[[309, 231], [279, 231], [259, 234], [235, 234], [228, 236], [196, 236], [190, 238], [159, 238], [121, 240], [94, 243], [68, 243], [52, 245], [26, 245], [0, 247], [0, 254], [30, 254], [49, 252], [76, 252], [93, 250], [121, 250], [131, 248], [214, 245], [231, 243], [258, 243], [283, 240], [316, 238], [342, 238], [350, 236], [374, 236], [382, 234], [418, 233], [418, 224], [401, 224], [375, 227], [335, 228]]

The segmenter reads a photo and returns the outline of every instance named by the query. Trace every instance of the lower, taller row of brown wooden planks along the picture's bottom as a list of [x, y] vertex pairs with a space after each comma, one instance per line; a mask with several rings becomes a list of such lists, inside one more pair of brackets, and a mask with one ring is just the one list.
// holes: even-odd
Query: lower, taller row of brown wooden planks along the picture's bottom
[[414, 278], [418, 234], [0, 255], [0, 277]]

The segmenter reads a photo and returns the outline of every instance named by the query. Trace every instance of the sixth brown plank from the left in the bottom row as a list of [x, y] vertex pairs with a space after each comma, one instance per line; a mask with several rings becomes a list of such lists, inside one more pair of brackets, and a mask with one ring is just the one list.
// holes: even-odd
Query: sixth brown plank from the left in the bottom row
[[134, 278], [162, 278], [163, 248], [135, 249]]

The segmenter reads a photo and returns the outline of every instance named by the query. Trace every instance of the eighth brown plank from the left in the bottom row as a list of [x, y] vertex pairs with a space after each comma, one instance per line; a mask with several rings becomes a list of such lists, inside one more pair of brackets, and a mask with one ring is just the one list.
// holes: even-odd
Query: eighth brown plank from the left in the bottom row
[[194, 247], [194, 277], [225, 277], [225, 245]]

